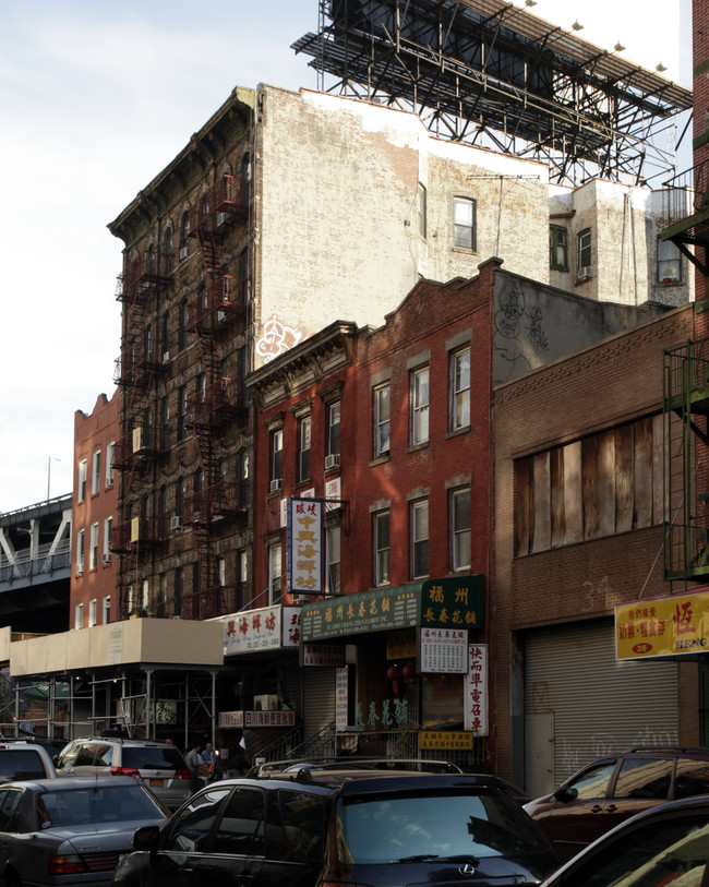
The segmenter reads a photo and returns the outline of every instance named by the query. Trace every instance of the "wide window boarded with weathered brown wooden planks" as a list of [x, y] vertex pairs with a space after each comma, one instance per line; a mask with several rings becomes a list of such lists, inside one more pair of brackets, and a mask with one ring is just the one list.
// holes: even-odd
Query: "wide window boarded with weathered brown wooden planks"
[[519, 459], [516, 553], [530, 554], [661, 523], [659, 427], [658, 417], [640, 419]]

